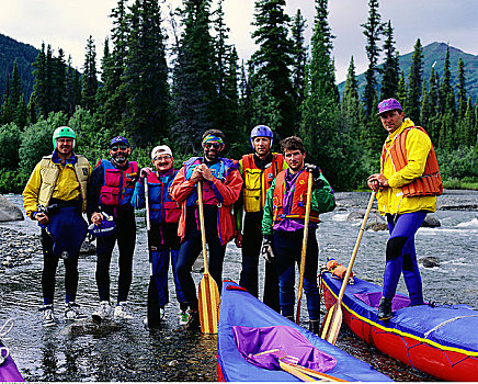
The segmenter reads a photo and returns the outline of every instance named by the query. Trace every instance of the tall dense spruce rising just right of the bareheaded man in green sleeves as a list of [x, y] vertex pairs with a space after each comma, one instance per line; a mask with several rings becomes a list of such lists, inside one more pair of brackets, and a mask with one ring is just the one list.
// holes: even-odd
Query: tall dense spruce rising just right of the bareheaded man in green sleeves
[[[362, 179], [356, 173], [361, 168], [361, 156], [341, 118], [331, 56], [333, 36], [328, 22], [328, 0], [316, 0], [316, 12], [300, 136], [306, 146], [307, 161], [318, 165], [335, 189], [355, 188], [356, 180]], [[349, 166], [337, 167], [339, 163]]]

